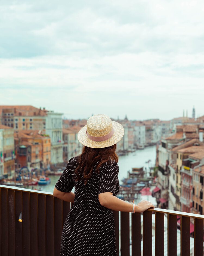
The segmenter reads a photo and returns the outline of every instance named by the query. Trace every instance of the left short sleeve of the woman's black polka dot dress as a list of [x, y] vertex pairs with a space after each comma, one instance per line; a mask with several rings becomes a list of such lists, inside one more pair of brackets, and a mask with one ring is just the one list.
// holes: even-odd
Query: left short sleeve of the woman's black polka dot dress
[[63, 173], [55, 184], [55, 188], [61, 192], [71, 192], [74, 187], [74, 181], [70, 174], [71, 160], [72, 158], [67, 163], [66, 168], [64, 169]]

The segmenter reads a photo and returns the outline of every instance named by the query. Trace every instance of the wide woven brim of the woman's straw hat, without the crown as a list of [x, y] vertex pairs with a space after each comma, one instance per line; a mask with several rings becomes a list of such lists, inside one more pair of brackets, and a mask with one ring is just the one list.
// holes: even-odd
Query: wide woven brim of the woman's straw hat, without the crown
[[78, 132], [78, 140], [79, 142], [81, 142], [82, 145], [86, 146], [86, 147], [90, 147], [90, 148], [105, 148], [105, 147], [110, 147], [114, 144], [116, 144], [117, 142], [119, 142], [123, 135], [124, 135], [124, 128], [123, 126], [116, 122], [116, 121], [112, 121], [113, 124], [113, 129], [114, 129], [114, 133], [111, 136], [110, 139], [107, 139], [105, 141], [92, 141], [91, 139], [88, 138], [87, 134], [86, 134], [86, 126], [81, 128], [81, 130], [79, 130]]

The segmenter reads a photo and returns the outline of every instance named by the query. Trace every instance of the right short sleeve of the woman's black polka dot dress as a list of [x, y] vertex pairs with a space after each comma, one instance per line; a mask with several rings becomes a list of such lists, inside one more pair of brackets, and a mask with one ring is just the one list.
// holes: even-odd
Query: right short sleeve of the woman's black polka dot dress
[[115, 195], [116, 185], [119, 183], [118, 173], [119, 166], [115, 161], [112, 165], [105, 167], [101, 171], [98, 195], [105, 192], [111, 192]]

